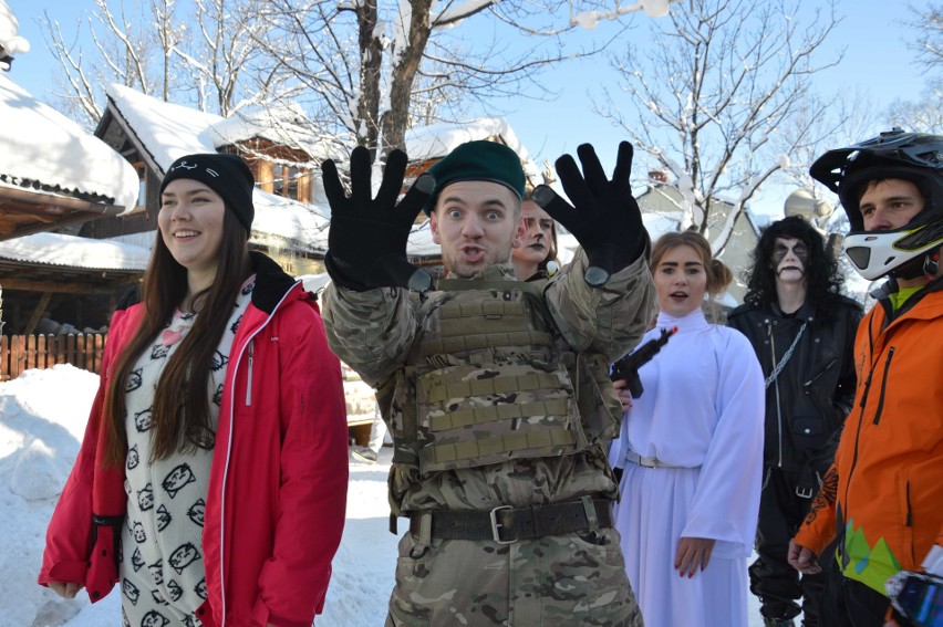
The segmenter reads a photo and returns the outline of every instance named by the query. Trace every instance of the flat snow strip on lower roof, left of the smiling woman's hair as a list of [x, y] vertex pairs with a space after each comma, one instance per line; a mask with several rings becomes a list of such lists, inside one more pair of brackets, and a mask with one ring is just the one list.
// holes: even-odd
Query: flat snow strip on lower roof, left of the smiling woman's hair
[[111, 240], [35, 233], [0, 241], [0, 259], [89, 270], [143, 271], [151, 251]]

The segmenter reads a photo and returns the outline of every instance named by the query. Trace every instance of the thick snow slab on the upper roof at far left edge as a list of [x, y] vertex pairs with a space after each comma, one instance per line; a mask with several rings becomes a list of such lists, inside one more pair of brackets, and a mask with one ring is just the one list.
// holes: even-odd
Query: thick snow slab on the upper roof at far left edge
[[0, 74], [0, 181], [123, 207], [137, 205], [137, 173], [107, 144]]

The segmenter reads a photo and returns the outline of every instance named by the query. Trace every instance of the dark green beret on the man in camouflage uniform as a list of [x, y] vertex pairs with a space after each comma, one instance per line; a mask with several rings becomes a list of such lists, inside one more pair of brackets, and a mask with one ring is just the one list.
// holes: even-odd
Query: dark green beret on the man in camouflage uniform
[[429, 168], [435, 189], [423, 211], [432, 213], [442, 190], [460, 180], [486, 180], [504, 185], [524, 198], [524, 168], [517, 153], [497, 142], [480, 139], [462, 144]]

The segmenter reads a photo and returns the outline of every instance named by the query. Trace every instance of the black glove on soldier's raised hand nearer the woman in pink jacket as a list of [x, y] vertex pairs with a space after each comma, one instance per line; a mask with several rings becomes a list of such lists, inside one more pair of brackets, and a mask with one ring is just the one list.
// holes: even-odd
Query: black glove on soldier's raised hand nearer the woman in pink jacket
[[351, 153], [348, 197], [334, 161], [321, 164], [324, 194], [331, 206], [324, 258], [328, 274], [338, 285], [354, 291], [407, 288], [425, 292], [432, 286], [432, 276], [406, 260], [406, 239], [435, 187], [435, 179], [429, 174], [421, 175], [397, 205], [406, 173], [406, 154], [390, 153], [375, 199], [371, 198], [370, 170], [370, 150], [357, 146]]

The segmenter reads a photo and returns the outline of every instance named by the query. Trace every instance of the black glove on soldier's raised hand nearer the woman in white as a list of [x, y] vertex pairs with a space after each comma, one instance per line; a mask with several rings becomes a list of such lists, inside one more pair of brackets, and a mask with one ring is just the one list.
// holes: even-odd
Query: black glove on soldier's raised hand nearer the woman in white
[[533, 200], [573, 233], [583, 247], [589, 259], [584, 280], [593, 288], [599, 288], [609, 280], [610, 274], [622, 270], [642, 254], [647, 233], [642, 226], [642, 211], [629, 187], [632, 144], [619, 144], [612, 180], [605, 178], [591, 145], [580, 145], [577, 154], [583, 166], [582, 175], [570, 155], [557, 159], [560, 182], [576, 209], [546, 185], [533, 190]]

